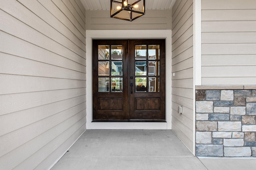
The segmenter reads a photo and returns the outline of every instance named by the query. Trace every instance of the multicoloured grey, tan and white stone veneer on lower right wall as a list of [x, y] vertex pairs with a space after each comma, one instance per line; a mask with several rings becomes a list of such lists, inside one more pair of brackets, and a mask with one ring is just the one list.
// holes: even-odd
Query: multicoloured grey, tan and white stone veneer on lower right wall
[[196, 156], [256, 156], [256, 90], [196, 90]]

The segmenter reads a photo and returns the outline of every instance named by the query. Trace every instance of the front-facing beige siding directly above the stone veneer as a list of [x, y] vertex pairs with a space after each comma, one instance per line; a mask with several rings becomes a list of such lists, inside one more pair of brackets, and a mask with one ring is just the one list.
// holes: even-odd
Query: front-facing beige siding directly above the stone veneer
[[256, 1], [202, 0], [202, 85], [256, 84]]

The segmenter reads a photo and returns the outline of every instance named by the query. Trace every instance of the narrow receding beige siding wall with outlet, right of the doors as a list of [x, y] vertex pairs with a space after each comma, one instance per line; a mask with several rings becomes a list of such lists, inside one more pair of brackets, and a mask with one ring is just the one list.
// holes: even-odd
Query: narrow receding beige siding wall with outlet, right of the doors
[[172, 130], [193, 151], [193, 0], [172, 8]]

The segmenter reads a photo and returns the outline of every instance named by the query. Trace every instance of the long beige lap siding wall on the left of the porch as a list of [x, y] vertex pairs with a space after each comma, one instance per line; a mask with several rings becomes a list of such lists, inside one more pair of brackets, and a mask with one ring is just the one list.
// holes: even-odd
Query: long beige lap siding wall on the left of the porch
[[85, 130], [85, 10], [0, 3], [0, 169], [47, 169]]

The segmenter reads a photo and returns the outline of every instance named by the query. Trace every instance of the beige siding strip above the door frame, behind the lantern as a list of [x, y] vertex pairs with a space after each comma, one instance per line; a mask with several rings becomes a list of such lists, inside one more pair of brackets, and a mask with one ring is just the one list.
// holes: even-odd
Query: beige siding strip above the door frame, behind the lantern
[[86, 10], [86, 30], [153, 29], [171, 29], [171, 10], [146, 10], [144, 16], [132, 22], [110, 18], [110, 10]]

